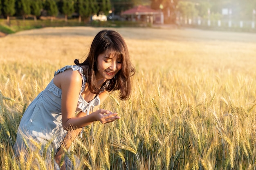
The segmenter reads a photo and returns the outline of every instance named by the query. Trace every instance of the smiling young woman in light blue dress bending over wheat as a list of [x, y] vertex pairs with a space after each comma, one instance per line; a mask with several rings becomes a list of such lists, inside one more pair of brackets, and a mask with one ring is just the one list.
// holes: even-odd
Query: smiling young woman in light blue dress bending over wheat
[[59, 169], [64, 150], [81, 128], [94, 121], [105, 124], [120, 119], [117, 113], [104, 109], [93, 112], [93, 108], [108, 97], [108, 92], [119, 91], [122, 100], [130, 97], [135, 69], [124, 38], [116, 31], [100, 31], [86, 60], [79, 63], [76, 59], [74, 63], [56, 71], [27, 107], [17, 132], [17, 155], [37, 151], [49, 157], [49, 162], [55, 155], [54, 168]]

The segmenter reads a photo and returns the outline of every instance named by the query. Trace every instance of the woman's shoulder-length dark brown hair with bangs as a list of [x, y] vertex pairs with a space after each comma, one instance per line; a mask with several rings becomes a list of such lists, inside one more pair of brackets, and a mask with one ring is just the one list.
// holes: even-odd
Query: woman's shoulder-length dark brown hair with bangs
[[97, 88], [96, 82], [96, 73], [98, 71], [97, 57], [102, 53], [106, 53], [109, 56], [120, 57], [122, 62], [121, 70], [114, 78], [107, 80], [109, 81], [109, 85], [106, 87], [106, 91], [119, 90], [119, 98], [122, 100], [128, 99], [132, 90], [131, 76], [135, 74], [135, 68], [130, 61], [126, 42], [118, 32], [102, 30], [97, 33], [92, 41], [90, 52], [86, 60], [83, 63], [79, 63], [79, 60], [76, 59], [74, 63], [76, 65], [86, 66], [84, 74], [86, 82], [89, 84], [89, 90], [91, 93], [99, 94], [101, 89]]

